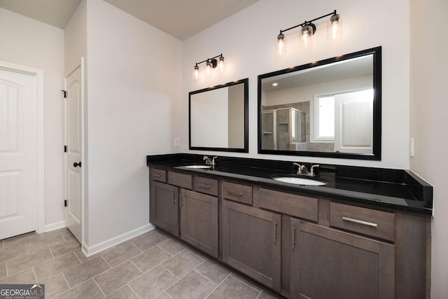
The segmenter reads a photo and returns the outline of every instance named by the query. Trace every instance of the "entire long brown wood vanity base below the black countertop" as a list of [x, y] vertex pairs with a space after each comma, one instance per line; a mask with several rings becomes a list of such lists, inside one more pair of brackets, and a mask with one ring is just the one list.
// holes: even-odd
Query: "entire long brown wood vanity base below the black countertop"
[[430, 217], [151, 167], [150, 221], [286, 298], [428, 298]]

